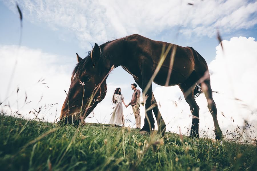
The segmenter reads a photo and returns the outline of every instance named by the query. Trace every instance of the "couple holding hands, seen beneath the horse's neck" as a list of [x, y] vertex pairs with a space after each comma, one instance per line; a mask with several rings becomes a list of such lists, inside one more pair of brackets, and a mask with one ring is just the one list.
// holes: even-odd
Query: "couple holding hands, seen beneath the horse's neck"
[[140, 129], [141, 126], [141, 116], [140, 116], [140, 90], [136, 88], [136, 84], [131, 84], [132, 90], [134, 90], [134, 93], [132, 94], [132, 99], [128, 103], [128, 105], [124, 102], [124, 96], [121, 94], [121, 88], [117, 88], [113, 94], [112, 101], [115, 104], [113, 115], [110, 120], [110, 124], [114, 125], [125, 125], [125, 119], [123, 115], [123, 106], [122, 103], [128, 107], [129, 105], [132, 106], [132, 110], [136, 119], [136, 129]]

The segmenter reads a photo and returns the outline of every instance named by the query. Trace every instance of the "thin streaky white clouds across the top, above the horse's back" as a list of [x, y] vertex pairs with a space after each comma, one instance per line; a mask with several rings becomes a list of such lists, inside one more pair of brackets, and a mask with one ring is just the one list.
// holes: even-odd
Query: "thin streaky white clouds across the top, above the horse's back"
[[[16, 1], [6, 1], [17, 12]], [[214, 36], [216, 28], [229, 33], [257, 23], [257, 1], [29, 1], [19, 2], [23, 16], [53, 29], [74, 32], [85, 47], [129, 34], [155, 35], [181, 26], [186, 35]]]

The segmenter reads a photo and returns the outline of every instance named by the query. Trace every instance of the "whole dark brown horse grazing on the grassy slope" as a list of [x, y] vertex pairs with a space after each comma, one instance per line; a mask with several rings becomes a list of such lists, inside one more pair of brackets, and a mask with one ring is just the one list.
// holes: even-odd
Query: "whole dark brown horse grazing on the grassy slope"
[[[165, 56], [160, 57], [161, 54]], [[150, 110], [146, 110], [144, 126], [140, 132], [154, 129], [152, 111], [156, 117], [158, 132], [164, 133], [166, 130], [152, 92], [154, 82], [160, 86], [179, 86], [193, 115], [191, 137], [199, 137], [199, 107], [194, 98], [204, 91], [213, 117], [216, 139], [222, 138], [217, 108], [212, 98], [208, 66], [192, 47], [182, 47], [133, 34], [100, 46], [95, 44], [86, 58], [82, 59], [77, 54], [77, 60], [69, 92], [61, 110], [60, 120], [64, 123], [83, 121], [105, 97], [106, 79], [110, 71], [122, 66], [141, 87], [143, 97], [150, 97], [145, 98], [145, 108]]]

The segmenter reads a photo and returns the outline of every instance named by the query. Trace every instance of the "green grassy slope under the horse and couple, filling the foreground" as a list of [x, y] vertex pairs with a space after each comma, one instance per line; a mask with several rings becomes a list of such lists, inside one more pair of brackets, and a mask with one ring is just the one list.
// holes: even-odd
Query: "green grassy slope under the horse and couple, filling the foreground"
[[253, 144], [0, 115], [1, 170], [256, 170]]

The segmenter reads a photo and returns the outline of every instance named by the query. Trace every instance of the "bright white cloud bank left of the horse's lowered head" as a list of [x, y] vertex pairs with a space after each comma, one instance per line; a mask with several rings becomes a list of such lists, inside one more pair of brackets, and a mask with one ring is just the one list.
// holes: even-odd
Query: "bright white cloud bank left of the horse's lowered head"
[[[12, 84], [8, 87], [16, 59], [17, 65], [15, 65]], [[13, 112], [19, 111], [26, 117], [33, 118], [34, 115], [29, 114], [30, 110], [38, 111], [38, 107], [50, 105], [52, 107], [42, 108], [39, 118], [45, 115], [45, 119], [54, 121], [56, 110], [56, 117], [59, 117], [61, 105], [66, 97], [64, 89], [70, 84], [72, 70], [72, 68], [69, 69], [67, 61], [63, 61], [63, 57], [44, 53], [39, 49], [29, 49], [25, 46], [20, 48], [18, 46], [0, 46], [0, 60], [0, 101], [3, 102], [0, 109], [8, 111], [7, 107], [3, 107], [3, 105], [10, 104]], [[75, 60], [73, 65], [75, 65]], [[39, 80], [41, 81], [38, 82]], [[16, 93], [17, 87], [19, 87], [18, 93]], [[25, 92], [27, 94], [26, 103], [29, 101], [31, 103], [25, 104]], [[40, 101], [42, 95], [43, 98]], [[52, 103], [58, 104], [51, 105]]]

